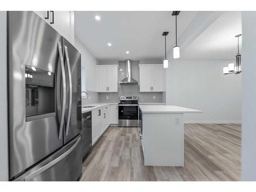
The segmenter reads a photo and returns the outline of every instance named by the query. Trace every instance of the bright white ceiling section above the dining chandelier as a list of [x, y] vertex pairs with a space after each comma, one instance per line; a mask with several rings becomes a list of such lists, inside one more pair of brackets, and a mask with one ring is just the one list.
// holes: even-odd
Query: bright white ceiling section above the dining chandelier
[[[226, 11], [183, 48], [180, 59], [234, 59], [237, 54], [237, 38], [234, 36], [241, 33], [241, 12]], [[241, 49], [241, 37], [239, 41]]]

